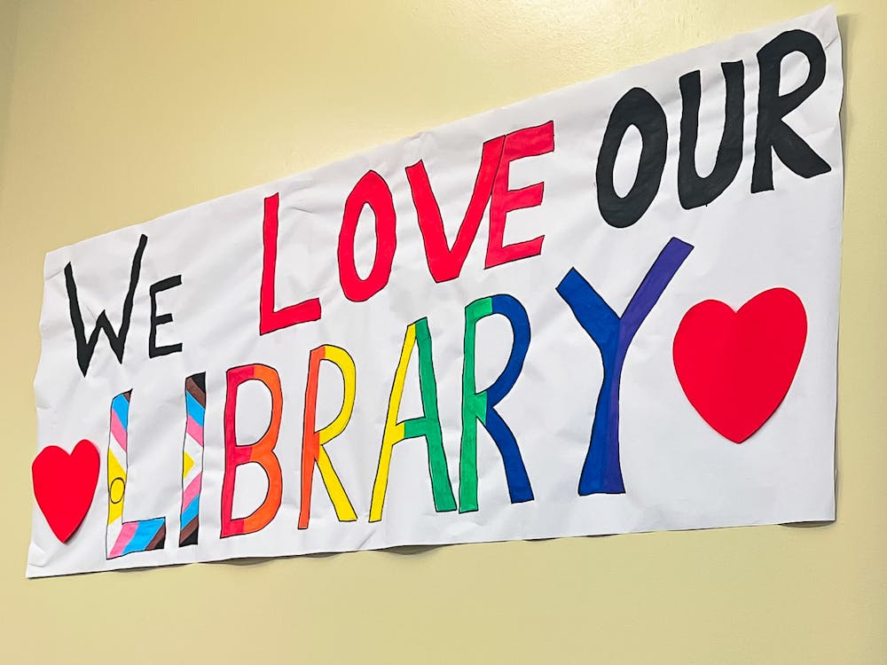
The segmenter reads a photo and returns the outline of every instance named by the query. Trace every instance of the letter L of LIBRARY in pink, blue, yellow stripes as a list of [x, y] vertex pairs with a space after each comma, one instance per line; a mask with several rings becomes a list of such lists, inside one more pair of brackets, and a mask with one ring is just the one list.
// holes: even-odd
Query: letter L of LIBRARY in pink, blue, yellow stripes
[[111, 432], [108, 435], [108, 526], [107, 559], [116, 559], [130, 552], [162, 550], [166, 541], [166, 519], [123, 521], [123, 499], [126, 496], [126, 449], [130, 426], [132, 391], [117, 395], [111, 401]]

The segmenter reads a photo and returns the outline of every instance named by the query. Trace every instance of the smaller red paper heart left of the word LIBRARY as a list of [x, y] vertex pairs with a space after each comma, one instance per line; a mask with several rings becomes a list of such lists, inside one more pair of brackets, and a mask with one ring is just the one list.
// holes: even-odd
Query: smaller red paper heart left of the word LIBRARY
[[46, 446], [31, 465], [37, 505], [62, 543], [67, 542], [90, 510], [98, 465], [98, 450], [87, 439], [77, 443], [70, 455], [58, 446]]

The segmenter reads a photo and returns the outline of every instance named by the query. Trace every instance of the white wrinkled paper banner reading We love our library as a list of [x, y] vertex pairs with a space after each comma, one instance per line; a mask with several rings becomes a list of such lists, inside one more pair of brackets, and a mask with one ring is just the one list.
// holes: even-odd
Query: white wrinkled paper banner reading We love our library
[[823, 10], [48, 254], [27, 575], [834, 519], [842, 90]]

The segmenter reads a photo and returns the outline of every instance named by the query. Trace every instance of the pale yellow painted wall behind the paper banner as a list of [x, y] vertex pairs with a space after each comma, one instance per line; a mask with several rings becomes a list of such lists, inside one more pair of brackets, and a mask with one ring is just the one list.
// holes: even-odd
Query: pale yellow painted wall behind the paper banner
[[836, 3], [836, 524], [24, 579], [47, 251], [818, 4], [0, 0], [0, 662], [887, 662], [882, 0]]

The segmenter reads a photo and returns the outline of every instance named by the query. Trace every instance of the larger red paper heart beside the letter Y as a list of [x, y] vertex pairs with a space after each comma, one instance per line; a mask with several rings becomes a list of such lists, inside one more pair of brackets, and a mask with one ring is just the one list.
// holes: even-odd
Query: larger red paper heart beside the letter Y
[[705, 422], [742, 443], [789, 392], [806, 337], [804, 303], [788, 289], [758, 293], [738, 312], [703, 301], [680, 321], [674, 369]]

